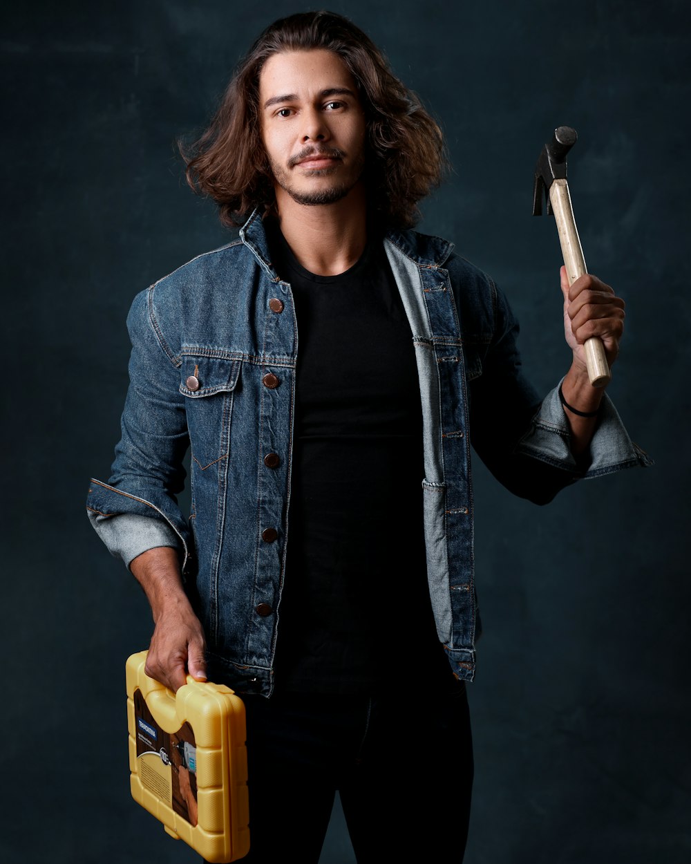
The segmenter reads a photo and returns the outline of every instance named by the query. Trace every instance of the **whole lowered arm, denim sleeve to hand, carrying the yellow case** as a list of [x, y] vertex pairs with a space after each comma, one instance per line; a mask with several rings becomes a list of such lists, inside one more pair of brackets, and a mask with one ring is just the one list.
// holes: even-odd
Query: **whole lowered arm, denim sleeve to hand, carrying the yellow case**
[[[175, 498], [183, 486], [187, 416], [179, 361], [155, 321], [151, 289], [128, 317], [132, 353], [122, 437], [107, 484], [92, 480], [88, 510], [98, 535], [122, 558], [149, 599], [155, 630], [146, 672], [176, 690], [186, 668], [206, 678], [205, 640], [183, 588], [180, 557], [191, 538]], [[174, 547], [174, 548], [173, 548]]]

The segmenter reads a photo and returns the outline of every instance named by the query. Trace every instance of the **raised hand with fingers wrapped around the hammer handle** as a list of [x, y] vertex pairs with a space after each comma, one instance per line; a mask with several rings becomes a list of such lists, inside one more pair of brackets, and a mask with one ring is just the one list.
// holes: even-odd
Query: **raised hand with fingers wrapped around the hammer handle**
[[597, 276], [586, 273], [568, 287], [566, 267], [560, 271], [564, 295], [564, 335], [574, 352], [574, 365], [586, 370], [583, 343], [597, 336], [605, 346], [611, 366], [619, 353], [619, 340], [624, 333], [624, 301]]

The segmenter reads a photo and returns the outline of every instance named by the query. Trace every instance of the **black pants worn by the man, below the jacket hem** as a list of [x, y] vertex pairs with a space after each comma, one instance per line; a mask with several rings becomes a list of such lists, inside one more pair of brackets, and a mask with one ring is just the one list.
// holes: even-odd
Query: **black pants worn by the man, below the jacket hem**
[[[317, 864], [335, 791], [358, 864], [466, 848], [472, 740], [465, 686], [386, 696], [245, 698], [250, 854]], [[448, 854], [448, 849], [453, 849]]]

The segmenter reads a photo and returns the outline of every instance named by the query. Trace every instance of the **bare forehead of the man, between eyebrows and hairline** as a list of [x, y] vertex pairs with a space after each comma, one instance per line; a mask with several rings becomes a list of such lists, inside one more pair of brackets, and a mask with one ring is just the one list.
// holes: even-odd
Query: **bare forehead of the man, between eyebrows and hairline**
[[272, 54], [259, 74], [259, 99], [282, 93], [309, 98], [332, 87], [346, 87], [357, 93], [355, 80], [346, 64], [333, 51], [287, 51]]

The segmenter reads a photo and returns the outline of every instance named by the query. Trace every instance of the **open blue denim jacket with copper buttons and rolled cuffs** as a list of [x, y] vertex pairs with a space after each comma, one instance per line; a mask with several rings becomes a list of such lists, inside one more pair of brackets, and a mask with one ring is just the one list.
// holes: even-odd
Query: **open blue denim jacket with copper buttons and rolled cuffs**
[[[649, 461], [605, 398], [587, 467], [577, 464], [556, 391], [541, 403], [523, 378], [517, 323], [491, 279], [440, 238], [393, 232], [384, 245], [420, 377], [434, 617], [454, 673], [472, 680], [471, 441], [505, 486], [538, 503], [581, 476]], [[177, 547], [210, 676], [268, 696], [288, 549], [298, 327], [258, 214], [238, 240], [137, 295], [128, 327], [122, 438], [109, 482], [92, 480], [92, 524], [128, 564], [155, 546]], [[175, 495], [188, 445], [187, 520]], [[278, 464], [265, 464], [267, 454]]]

